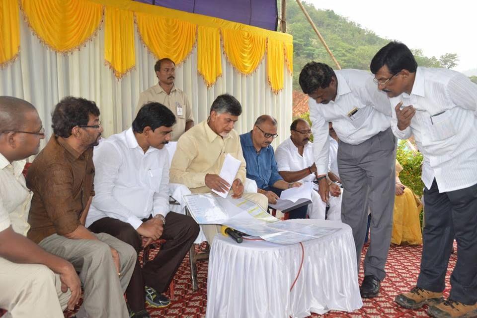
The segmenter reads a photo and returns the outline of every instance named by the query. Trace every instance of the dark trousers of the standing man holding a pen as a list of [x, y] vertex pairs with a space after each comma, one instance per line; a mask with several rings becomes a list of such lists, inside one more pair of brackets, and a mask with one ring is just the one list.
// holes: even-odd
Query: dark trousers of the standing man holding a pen
[[424, 189], [424, 203], [425, 225], [417, 286], [432, 292], [444, 290], [455, 238], [457, 263], [451, 275], [449, 297], [473, 305], [477, 301], [477, 184], [439, 193], [434, 179], [431, 188]]

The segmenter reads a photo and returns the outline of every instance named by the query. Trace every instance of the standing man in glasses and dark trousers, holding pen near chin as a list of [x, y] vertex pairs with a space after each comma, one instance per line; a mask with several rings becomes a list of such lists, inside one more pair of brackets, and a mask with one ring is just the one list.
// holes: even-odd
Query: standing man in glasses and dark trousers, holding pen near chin
[[[452, 70], [418, 67], [398, 42], [376, 53], [371, 72], [394, 108], [395, 135], [414, 135], [424, 156], [421, 269], [416, 287], [396, 302], [409, 309], [427, 304], [436, 318], [477, 317], [477, 86]], [[442, 302], [454, 237], [457, 263]]]

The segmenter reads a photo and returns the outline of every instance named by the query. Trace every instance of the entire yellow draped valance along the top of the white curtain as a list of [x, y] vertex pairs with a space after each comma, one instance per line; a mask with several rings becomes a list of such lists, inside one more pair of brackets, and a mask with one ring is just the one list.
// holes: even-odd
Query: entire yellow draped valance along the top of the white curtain
[[221, 35], [227, 59], [242, 74], [253, 73], [267, 53], [275, 93], [283, 89], [284, 65], [293, 72], [289, 34], [131, 0], [1, 0], [0, 67], [19, 51], [18, 3], [29, 27], [57, 52], [79, 48], [104, 19], [104, 59], [118, 78], [135, 65], [134, 17], [142, 42], [158, 59], [179, 64], [197, 44], [197, 68], [207, 87], [222, 74]]

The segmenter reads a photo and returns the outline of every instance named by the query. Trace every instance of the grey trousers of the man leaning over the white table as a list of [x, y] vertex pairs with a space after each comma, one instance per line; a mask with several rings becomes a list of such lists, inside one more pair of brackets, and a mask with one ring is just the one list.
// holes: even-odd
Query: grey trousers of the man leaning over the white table
[[371, 242], [364, 260], [364, 274], [383, 280], [393, 229], [396, 137], [388, 128], [358, 145], [340, 141], [337, 160], [344, 187], [341, 220], [353, 230], [358, 271], [369, 205]]

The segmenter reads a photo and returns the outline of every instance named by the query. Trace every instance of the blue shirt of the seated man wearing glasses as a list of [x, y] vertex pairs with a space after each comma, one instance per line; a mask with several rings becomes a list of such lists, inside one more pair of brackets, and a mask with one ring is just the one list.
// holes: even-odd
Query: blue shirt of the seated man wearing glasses
[[247, 178], [255, 180], [257, 187], [265, 189], [273, 186], [278, 180], [283, 178], [278, 174], [277, 162], [273, 147], [269, 145], [262, 148], [257, 154], [252, 143], [250, 132], [240, 135], [243, 157], [247, 163]]

